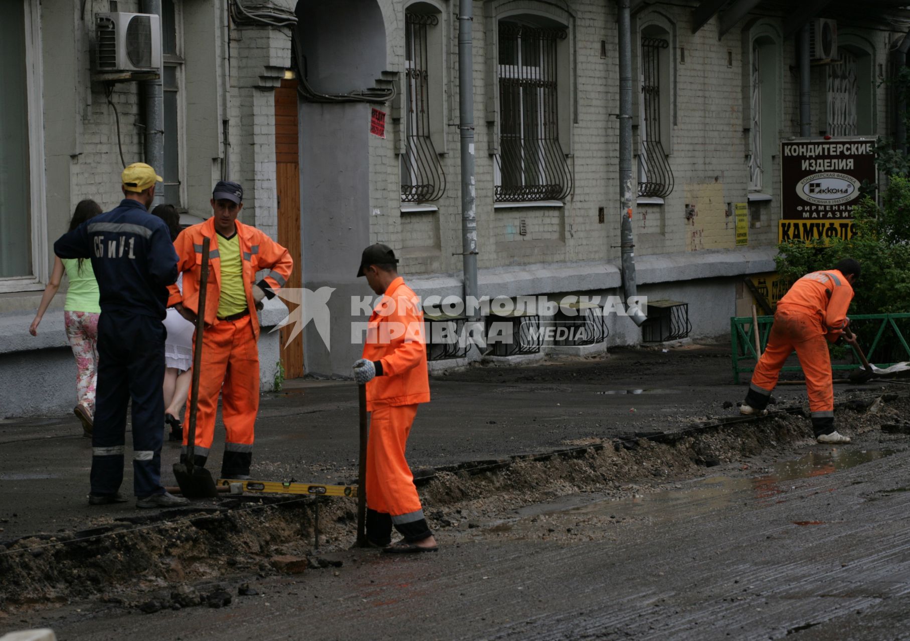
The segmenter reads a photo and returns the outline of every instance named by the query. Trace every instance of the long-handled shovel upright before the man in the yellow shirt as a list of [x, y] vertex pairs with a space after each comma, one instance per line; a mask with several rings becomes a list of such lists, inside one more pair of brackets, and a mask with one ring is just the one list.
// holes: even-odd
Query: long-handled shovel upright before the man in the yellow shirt
[[199, 276], [199, 303], [196, 315], [196, 349], [193, 352], [193, 383], [189, 401], [189, 433], [187, 456], [184, 463], [174, 464], [174, 476], [180, 493], [187, 498], [214, 498], [217, 496], [215, 480], [205, 467], [195, 465], [196, 415], [199, 409], [199, 375], [202, 369], [202, 332], [206, 325], [206, 293], [208, 287], [208, 245], [202, 240], [202, 274]]

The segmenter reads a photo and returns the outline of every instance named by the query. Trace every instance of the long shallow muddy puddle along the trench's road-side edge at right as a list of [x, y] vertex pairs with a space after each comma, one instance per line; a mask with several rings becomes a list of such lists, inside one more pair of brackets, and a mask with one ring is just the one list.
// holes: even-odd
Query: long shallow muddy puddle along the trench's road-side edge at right
[[[633, 496], [621, 500], [591, 502], [590, 496], [562, 496], [555, 502], [527, 506], [518, 511], [519, 520], [512, 524], [515, 533], [536, 530], [532, 516], [562, 514], [567, 516], [609, 516], [622, 519], [648, 518], [655, 521], [673, 520], [686, 516], [701, 516], [724, 509], [733, 502], [743, 500], [742, 493], [758, 499], [759, 505], [772, 505], [783, 501], [775, 497], [784, 493], [786, 483], [800, 478], [824, 476], [837, 470], [859, 466], [890, 456], [895, 450], [852, 450], [831, 448], [813, 450], [792, 461], [771, 467], [767, 474], [752, 478], [712, 476], [686, 484], [681, 489], [665, 490], [654, 494]], [[821, 521], [794, 522], [798, 526], [824, 525]], [[504, 530], [500, 530], [504, 531]]]

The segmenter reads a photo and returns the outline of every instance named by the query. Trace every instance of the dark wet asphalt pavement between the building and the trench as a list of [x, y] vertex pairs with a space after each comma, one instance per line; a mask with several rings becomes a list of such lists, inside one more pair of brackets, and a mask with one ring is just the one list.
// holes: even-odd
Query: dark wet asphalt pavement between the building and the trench
[[[478, 367], [434, 377], [431, 388], [433, 400], [420, 407], [408, 442], [414, 469], [539, 453], [573, 439], [681, 429], [693, 416], [730, 414], [723, 401], [744, 394], [732, 385], [729, 346], [626, 349], [593, 360]], [[649, 391], [625, 394], [642, 388]], [[805, 391], [792, 387], [777, 396], [782, 403], [801, 402]], [[286, 392], [261, 398], [252, 475], [329, 483], [356, 478], [357, 426], [353, 383], [291, 382]], [[208, 465], [214, 475], [223, 446], [219, 420]], [[128, 456], [127, 450], [121, 488], [132, 494]], [[179, 445], [166, 442], [166, 486], [177, 484], [171, 466], [178, 456]], [[132, 502], [87, 508], [90, 466], [91, 441], [74, 416], [0, 419], [0, 542], [135, 516]]]

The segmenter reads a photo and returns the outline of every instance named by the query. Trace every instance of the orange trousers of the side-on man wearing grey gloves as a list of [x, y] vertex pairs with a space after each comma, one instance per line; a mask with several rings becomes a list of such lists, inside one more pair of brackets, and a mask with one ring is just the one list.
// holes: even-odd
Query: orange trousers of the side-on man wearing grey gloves
[[417, 405], [375, 406], [367, 439], [367, 506], [400, 526], [423, 519], [414, 475], [404, 458]]

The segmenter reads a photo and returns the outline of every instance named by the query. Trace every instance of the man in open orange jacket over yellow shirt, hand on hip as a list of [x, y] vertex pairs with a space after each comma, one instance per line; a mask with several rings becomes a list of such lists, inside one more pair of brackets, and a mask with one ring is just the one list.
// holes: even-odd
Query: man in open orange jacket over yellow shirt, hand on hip
[[[294, 265], [288, 250], [256, 227], [237, 219], [243, 208], [243, 188], [219, 181], [211, 199], [214, 215], [183, 230], [174, 241], [183, 292], [170, 286], [167, 305], [195, 322], [202, 269], [202, 240], [209, 238], [209, 272], [199, 368], [199, 400], [195, 464], [205, 466], [215, 435], [215, 413], [221, 394], [225, 423], [223, 478], [249, 478], [253, 458], [253, 426], [259, 408], [258, 306], [283, 286]], [[260, 270], [268, 275], [254, 282]], [[195, 341], [194, 341], [195, 349]], [[184, 425], [189, 424], [189, 403]], [[184, 430], [186, 459], [187, 430]]]

